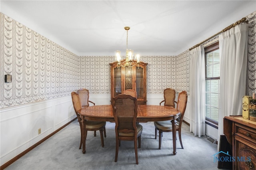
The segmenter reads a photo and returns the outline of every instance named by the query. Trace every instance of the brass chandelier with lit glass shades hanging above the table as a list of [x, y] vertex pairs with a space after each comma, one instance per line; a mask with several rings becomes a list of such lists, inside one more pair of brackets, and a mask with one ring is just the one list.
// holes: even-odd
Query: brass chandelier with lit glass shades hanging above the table
[[118, 67], [133, 67], [134, 65], [138, 65], [140, 63], [140, 54], [135, 54], [135, 59], [133, 60], [133, 50], [132, 49], [128, 49], [128, 30], [130, 30], [130, 27], [124, 27], [124, 30], [127, 31], [127, 36], [126, 36], [126, 53], [125, 53], [125, 63], [121, 64], [121, 52], [120, 51], [115, 51], [115, 56], [116, 56], [116, 62], [118, 64]]

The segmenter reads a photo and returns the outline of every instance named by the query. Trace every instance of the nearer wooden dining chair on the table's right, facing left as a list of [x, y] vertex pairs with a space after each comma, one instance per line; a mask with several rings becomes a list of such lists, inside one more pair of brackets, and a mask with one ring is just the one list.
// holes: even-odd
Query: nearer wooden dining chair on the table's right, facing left
[[[179, 133], [180, 145], [183, 149], [182, 140], [181, 140], [181, 124], [183, 121], [183, 116], [186, 110], [188, 101], [188, 94], [186, 91], [182, 91], [178, 95], [177, 108], [180, 111], [180, 115], [176, 118], [176, 131]], [[171, 121], [157, 121], [154, 122], [155, 125], [155, 139], [157, 138], [157, 130], [159, 131], [159, 149], [161, 149], [162, 143], [162, 132], [172, 132], [172, 122]], [[172, 139], [174, 140], [174, 139]], [[176, 140], [176, 139], [175, 139]]]

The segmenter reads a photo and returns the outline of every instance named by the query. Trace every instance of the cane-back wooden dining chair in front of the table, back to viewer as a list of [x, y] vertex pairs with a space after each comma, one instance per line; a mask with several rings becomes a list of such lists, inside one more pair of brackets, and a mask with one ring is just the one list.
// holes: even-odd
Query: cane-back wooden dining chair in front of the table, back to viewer
[[112, 101], [113, 116], [116, 123], [116, 156], [118, 158], [118, 150], [121, 140], [134, 140], [134, 150], [136, 164], [138, 164], [137, 138], [138, 148], [141, 147], [142, 125], [136, 123], [138, 114], [137, 99], [131, 95], [121, 94], [113, 98]]

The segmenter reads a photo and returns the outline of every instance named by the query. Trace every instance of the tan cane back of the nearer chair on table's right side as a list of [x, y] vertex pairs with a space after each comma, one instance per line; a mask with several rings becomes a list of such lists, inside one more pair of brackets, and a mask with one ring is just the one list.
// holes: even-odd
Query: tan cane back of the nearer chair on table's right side
[[178, 121], [182, 122], [183, 116], [187, 107], [188, 94], [186, 91], [182, 91], [178, 95], [177, 109], [180, 111]]

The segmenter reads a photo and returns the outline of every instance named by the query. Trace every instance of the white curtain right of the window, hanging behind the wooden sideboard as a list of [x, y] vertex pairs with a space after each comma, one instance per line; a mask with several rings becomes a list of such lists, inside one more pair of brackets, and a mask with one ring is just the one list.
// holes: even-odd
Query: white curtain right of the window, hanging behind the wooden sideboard
[[223, 134], [223, 118], [230, 115], [242, 115], [242, 96], [246, 92], [247, 43], [248, 24], [240, 24], [219, 36], [220, 99], [218, 141], [220, 141], [220, 135]]

